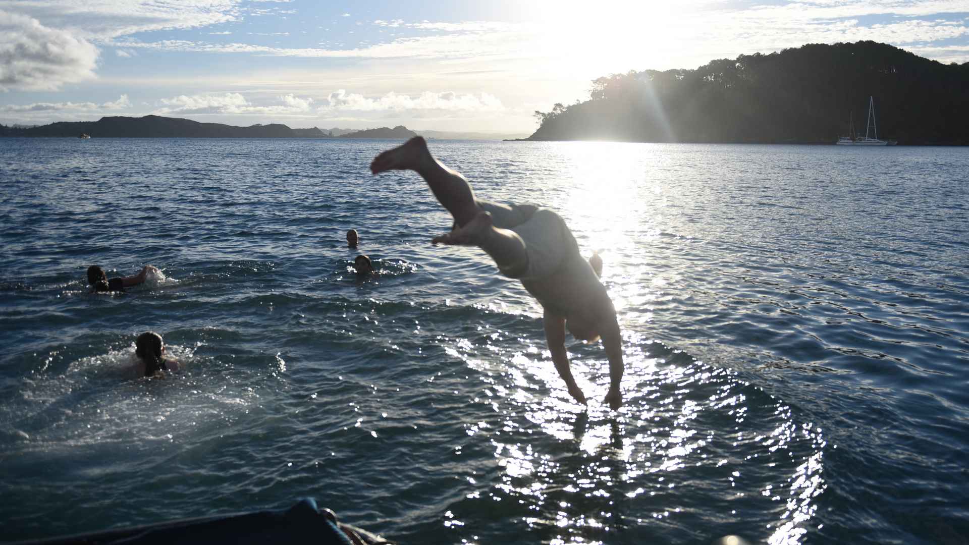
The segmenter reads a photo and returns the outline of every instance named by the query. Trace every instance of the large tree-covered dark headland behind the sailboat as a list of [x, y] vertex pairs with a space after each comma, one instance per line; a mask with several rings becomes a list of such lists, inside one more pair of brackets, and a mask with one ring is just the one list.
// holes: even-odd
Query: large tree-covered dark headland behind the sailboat
[[899, 144], [969, 144], [969, 62], [875, 42], [812, 44], [592, 81], [589, 100], [535, 112], [528, 141], [834, 144], [851, 116]]

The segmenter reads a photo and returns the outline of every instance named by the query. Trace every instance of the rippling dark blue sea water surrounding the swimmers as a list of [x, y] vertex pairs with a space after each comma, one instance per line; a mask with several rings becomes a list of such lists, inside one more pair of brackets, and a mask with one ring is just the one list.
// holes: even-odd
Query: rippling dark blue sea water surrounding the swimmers
[[[601, 345], [583, 407], [521, 286], [370, 176], [395, 144], [0, 139], [3, 539], [316, 497], [402, 543], [966, 542], [969, 151], [430, 141], [601, 252], [612, 413]], [[126, 371], [148, 330], [181, 372]]]

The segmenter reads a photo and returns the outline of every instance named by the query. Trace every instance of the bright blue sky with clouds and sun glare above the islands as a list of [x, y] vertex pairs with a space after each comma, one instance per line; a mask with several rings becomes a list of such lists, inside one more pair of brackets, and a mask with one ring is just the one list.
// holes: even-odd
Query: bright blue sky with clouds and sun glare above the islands
[[967, 62], [969, 0], [0, 0], [0, 123], [526, 136], [602, 76], [860, 40]]

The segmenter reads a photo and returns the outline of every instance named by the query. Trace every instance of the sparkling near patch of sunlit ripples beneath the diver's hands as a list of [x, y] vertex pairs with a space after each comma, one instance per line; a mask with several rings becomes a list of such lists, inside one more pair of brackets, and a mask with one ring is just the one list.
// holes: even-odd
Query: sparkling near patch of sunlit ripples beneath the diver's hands
[[[506, 356], [500, 372], [466, 360], [490, 371], [480, 402], [494, 418], [465, 429], [490, 445], [498, 474], [452, 506], [465, 527], [449, 528], [480, 532], [473, 521], [498, 508], [524, 525], [523, 542], [681, 542], [727, 533], [802, 542], [826, 488], [822, 431], [733, 371], [628, 340], [627, 404], [618, 413], [603, 407], [605, 391], [590, 395], [587, 408], [572, 401], [538, 354]], [[606, 382], [608, 365], [598, 358], [576, 359], [577, 376], [591, 377], [583, 388]], [[711, 521], [735, 526], [717, 533]]]

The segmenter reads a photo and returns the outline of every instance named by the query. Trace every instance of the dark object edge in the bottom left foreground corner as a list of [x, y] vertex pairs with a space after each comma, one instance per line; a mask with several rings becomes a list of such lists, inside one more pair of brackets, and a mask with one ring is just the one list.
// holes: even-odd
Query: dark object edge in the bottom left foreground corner
[[320, 545], [392, 544], [382, 537], [340, 523], [329, 509], [318, 509], [312, 498], [282, 511], [181, 519], [129, 529], [21, 541], [19, 545], [169, 545], [171, 543], [315, 543]]

